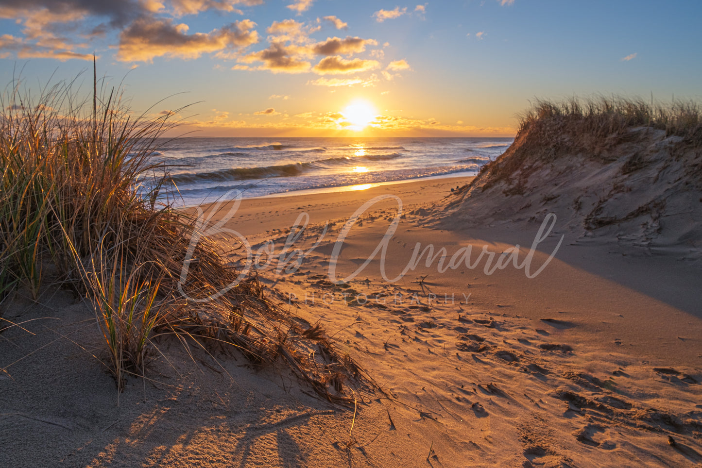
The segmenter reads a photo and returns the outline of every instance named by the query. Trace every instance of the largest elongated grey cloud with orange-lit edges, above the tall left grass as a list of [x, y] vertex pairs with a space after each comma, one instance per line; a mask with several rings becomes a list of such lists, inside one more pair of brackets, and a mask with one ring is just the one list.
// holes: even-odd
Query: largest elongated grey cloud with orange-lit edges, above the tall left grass
[[154, 58], [192, 59], [203, 53], [218, 52], [226, 58], [232, 51], [256, 44], [258, 32], [252, 31], [251, 20], [233, 22], [208, 33], [187, 34], [187, 25], [174, 25], [172, 20], [139, 18], [119, 35], [117, 60], [121, 62], [152, 62]]

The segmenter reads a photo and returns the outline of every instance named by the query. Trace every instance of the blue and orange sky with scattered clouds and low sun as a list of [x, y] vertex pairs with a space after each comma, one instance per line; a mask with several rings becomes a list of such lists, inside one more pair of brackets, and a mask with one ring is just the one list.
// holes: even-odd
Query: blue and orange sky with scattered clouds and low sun
[[511, 137], [538, 98], [702, 100], [701, 23], [675, 0], [0, 0], [0, 83], [89, 92], [95, 53], [192, 136]]

